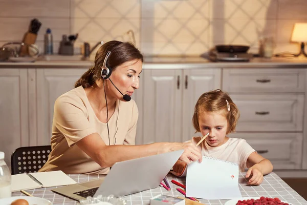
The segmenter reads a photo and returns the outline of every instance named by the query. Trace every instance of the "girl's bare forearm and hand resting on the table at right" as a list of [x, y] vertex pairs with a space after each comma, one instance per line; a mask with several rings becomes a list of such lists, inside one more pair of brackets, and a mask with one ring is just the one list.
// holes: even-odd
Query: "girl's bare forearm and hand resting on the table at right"
[[246, 173], [246, 178], [252, 177], [248, 180], [249, 185], [260, 185], [264, 175], [273, 171], [273, 165], [269, 159], [266, 159], [256, 152], [250, 154], [246, 162], [249, 170]]

